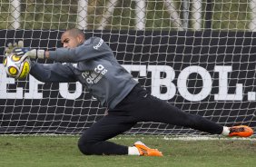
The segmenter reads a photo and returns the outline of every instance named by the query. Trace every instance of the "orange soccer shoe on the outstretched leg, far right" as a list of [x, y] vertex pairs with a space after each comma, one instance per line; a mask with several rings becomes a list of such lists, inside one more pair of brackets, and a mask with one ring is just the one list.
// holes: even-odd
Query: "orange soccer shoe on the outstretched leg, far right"
[[249, 126], [240, 125], [240, 126], [232, 126], [230, 128], [229, 136], [239, 136], [239, 137], [249, 137], [253, 134], [253, 130]]

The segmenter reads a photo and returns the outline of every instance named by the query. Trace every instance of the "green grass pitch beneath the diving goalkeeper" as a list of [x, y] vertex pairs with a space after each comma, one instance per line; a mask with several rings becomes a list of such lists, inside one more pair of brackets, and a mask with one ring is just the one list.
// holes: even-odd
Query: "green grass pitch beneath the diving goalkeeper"
[[131, 145], [142, 140], [163, 157], [85, 156], [78, 136], [0, 136], [1, 167], [108, 167], [108, 166], [256, 166], [255, 140], [165, 140], [153, 136], [118, 136], [113, 142]]

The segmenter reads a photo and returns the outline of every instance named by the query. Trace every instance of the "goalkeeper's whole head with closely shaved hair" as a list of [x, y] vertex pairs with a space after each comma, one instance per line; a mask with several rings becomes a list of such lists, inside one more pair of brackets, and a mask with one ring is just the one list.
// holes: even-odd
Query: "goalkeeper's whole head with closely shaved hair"
[[61, 38], [62, 44], [65, 48], [74, 48], [79, 44], [84, 43], [84, 40], [85, 40], [84, 32], [77, 28], [66, 30], [62, 34], [62, 38]]

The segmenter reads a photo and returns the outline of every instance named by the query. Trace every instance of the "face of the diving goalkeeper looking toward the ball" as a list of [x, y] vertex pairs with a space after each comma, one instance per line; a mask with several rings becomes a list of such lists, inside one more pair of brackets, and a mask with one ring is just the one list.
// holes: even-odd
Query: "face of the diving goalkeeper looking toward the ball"
[[79, 36], [73, 36], [69, 33], [64, 33], [62, 35], [61, 41], [65, 48], [74, 48], [81, 43]]

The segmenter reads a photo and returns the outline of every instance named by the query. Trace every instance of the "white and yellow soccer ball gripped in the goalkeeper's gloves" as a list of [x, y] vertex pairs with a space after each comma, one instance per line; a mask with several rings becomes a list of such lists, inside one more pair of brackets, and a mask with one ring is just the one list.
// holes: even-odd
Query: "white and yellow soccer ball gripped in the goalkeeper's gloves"
[[18, 56], [15, 53], [8, 54], [4, 60], [5, 72], [15, 79], [24, 79], [30, 71], [30, 59], [24, 54]]

